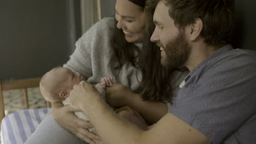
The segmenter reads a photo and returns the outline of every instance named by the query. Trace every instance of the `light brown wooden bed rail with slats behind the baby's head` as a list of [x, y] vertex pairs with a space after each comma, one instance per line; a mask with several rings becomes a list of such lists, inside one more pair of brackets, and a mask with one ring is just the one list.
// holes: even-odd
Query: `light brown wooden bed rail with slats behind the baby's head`
[[[17, 80], [17, 81], [10, 81], [10, 82], [0, 81], [0, 125], [3, 117], [5, 116], [3, 91], [12, 90], [12, 89], [23, 89], [26, 109], [30, 109], [30, 104], [28, 102], [27, 88], [39, 87], [40, 80], [41, 78]], [[48, 101], [47, 101], [47, 107], [50, 107], [50, 103]]]

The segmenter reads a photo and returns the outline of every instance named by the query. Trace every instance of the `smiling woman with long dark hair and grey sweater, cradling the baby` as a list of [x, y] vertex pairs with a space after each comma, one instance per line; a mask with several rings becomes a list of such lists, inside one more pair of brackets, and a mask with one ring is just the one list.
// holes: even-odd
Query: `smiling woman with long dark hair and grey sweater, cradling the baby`
[[[154, 28], [144, 14], [145, 4], [146, 0], [117, 0], [115, 17], [92, 26], [63, 67], [82, 74], [89, 83], [113, 77], [113, 86], [106, 88], [107, 103], [129, 106], [153, 124], [167, 113], [187, 73], [162, 67], [160, 49], [149, 40]], [[53, 115], [43, 120], [26, 143], [95, 143], [100, 139], [88, 130], [90, 123], [73, 111], [54, 103]]]

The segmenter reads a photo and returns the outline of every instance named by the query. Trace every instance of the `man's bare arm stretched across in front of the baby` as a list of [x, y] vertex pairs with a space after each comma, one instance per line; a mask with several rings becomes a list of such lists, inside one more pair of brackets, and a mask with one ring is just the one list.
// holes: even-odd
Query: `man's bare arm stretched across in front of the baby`
[[143, 131], [118, 117], [100, 98], [91, 100], [90, 105], [82, 103], [80, 108], [86, 111], [105, 143], [210, 143], [200, 131], [171, 113], [161, 118], [152, 129]]

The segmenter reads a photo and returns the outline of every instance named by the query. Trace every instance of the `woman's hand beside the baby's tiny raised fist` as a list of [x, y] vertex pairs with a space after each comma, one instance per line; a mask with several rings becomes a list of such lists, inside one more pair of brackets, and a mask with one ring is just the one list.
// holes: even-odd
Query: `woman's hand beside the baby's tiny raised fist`
[[106, 88], [106, 101], [114, 107], [121, 107], [130, 104], [133, 92], [120, 83], [113, 83], [111, 87]]

